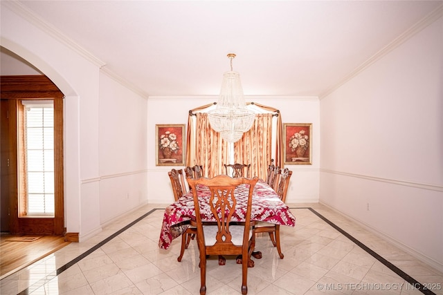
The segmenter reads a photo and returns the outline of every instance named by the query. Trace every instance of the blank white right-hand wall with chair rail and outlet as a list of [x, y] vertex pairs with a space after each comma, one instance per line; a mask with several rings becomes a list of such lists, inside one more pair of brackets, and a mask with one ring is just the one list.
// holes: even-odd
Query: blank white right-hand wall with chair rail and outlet
[[320, 100], [320, 202], [440, 270], [442, 81], [440, 17]]

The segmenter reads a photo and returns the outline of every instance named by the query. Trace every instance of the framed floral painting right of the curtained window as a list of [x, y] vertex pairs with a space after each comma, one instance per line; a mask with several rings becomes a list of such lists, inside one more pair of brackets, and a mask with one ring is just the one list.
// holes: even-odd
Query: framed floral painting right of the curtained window
[[284, 164], [312, 164], [312, 124], [283, 124]]

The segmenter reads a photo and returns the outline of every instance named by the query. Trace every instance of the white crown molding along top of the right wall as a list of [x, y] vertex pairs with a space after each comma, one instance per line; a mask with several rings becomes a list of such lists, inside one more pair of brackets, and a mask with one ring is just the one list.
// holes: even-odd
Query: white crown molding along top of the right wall
[[405, 41], [407, 41], [408, 39], [410, 39], [411, 37], [416, 35], [418, 32], [422, 31], [424, 28], [429, 26], [431, 23], [433, 23], [437, 19], [440, 19], [440, 17], [442, 17], [442, 16], [443, 16], [443, 4], [440, 4], [440, 6], [437, 6], [437, 8], [435, 8], [431, 13], [426, 15], [426, 17], [422, 18], [420, 21], [415, 23], [415, 25], [413, 25], [408, 30], [406, 30], [401, 35], [399, 35], [399, 37], [395, 38], [388, 45], [381, 48], [381, 50], [379, 50], [377, 53], [372, 55], [372, 57], [370, 57], [368, 60], [363, 62], [363, 64], [361, 64], [354, 71], [352, 71], [352, 73], [350, 73], [349, 75], [344, 77], [341, 80], [341, 82], [338, 82], [337, 84], [335, 84], [331, 88], [328, 88], [325, 92], [318, 95], [318, 98], [323, 99], [323, 98], [327, 97], [327, 95], [336, 91], [336, 89], [340, 88], [343, 84], [350, 81], [350, 79], [356, 77], [356, 75], [359, 75], [359, 73], [363, 72], [363, 70], [365, 70], [365, 68], [368, 68], [369, 66], [374, 64], [374, 62], [378, 61], [379, 59], [381, 59], [382, 57], [384, 57], [385, 55], [390, 53], [392, 50], [394, 50], [395, 48], [397, 48], [398, 46], [403, 44]]

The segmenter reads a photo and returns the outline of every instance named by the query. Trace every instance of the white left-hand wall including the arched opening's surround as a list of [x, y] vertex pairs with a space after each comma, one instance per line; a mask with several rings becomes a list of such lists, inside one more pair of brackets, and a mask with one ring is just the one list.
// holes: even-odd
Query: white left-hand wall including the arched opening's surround
[[103, 223], [146, 202], [146, 99], [101, 73], [101, 61], [8, 1], [1, 1], [1, 46], [65, 95], [66, 230], [86, 240]]

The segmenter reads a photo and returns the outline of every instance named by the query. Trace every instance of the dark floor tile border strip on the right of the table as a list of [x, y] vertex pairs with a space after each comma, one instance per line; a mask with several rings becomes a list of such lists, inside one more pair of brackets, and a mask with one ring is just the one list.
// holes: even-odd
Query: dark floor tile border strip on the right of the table
[[334, 224], [334, 222], [325, 218], [325, 216], [321, 215], [320, 213], [318, 213], [316, 210], [312, 209], [311, 207], [296, 207], [296, 208], [290, 208], [290, 209], [308, 209], [309, 211], [314, 213], [316, 216], [318, 216], [320, 219], [325, 221], [328, 225], [330, 225], [331, 227], [334, 227], [334, 229], [336, 229], [338, 232], [340, 232], [340, 234], [343, 234], [343, 236], [350, 239], [352, 242], [354, 242], [354, 244], [361, 247], [361, 249], [368, 252], [368, 254], [373, 256], [375, 259], [379, 260], [379, 262], [383, 263], [383, 265], [385, 265], [390, 270], [392, 270], [392, 272], [395, 272], [395, 274], [399, 275], [401, 278], [406, 280], [406, 282], [410, 283], [410, 285], [413, 285], [415, 289], [418, 289], [420, 292], [422, 292], [423, 294], [426, 294], [426, 295], [436, 295], [430, 289], [427, 289], [426, 287], [424, 287], [424, 285], [422, 285], [417, 280], [415, 280], [415, 278], [409, 276], [408, 274], [406, 274], [406, 272], [403, 272], [401, 269], [399, 269], [398, 267], [396, 267], [395, 265], [390, 263], [388, 260], [381, 257], [375, 251], [370, 249], [368, 246], [364, 245], [362, 242], [360, 242], [359, 240], [357, 240], [356, 238], [354, 238], [353, 236], [348, 234], [346, 231], [341, 229], [341, 227], [338, 227], [336, 224]]

